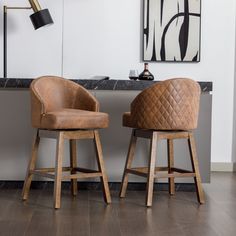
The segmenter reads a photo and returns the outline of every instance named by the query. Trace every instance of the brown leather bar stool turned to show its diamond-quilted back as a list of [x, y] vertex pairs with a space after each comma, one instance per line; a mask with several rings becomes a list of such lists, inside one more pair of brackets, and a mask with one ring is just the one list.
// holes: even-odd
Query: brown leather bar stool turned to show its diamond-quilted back
[[[204, 203], [192, 130], [197, 128], [200, 86], [190, 79], [170, 79], [142, 91], [123, 115], [123, 126], [133, 128], [123, 174], [120, 197], [125, 197], [128, 174], [147, 177], [146, 205], [152, 205], [155, 178], [168, 178], [169, 193], [175, 193], [175, 177], [194, 177], [199, 203]], [[148, 167], [132, 168], [137, 138], [150, 139]], [[167, 140], [168, 167], [156, 167], [157, 141]], [[174, 139], [187, 139], [192, 171], [174, 167]]]

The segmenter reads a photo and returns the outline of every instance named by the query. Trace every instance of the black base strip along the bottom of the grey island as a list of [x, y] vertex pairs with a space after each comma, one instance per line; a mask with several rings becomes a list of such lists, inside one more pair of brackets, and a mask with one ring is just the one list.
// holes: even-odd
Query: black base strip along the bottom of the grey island
[[[22, 189], [23, 181], [0, 181], [0, 189]], [[31, 189], [50, 189], [53, 191], [53, 181], [32, 181]], [[121, 187], [120, 182], [109, 182], [109, 188], [113, 191], [119, 191]], [[70, 189], [70, 182], [62, 182], [62, 189]], [[78, 182], [79, 190], [102, 190], [100, 182]], [[133, 183], [128, 184], [128, 190], [145, 191], [146, 183]], [[195, 184], [193, 183], [176, 183], [176, 191], [194, 192]], [[168, 191], [168, 183], [155, 183], [154, 191]]]

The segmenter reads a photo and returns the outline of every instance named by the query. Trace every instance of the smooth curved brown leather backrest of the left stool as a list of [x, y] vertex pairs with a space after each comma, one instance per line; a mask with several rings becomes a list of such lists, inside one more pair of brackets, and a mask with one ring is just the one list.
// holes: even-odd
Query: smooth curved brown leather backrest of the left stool
[[30, 86], [33, 126], [40, 124], [41, 116], [59, 109], [98, 111], [99, 103], [85, 88], [57, 76], [43, 76]]

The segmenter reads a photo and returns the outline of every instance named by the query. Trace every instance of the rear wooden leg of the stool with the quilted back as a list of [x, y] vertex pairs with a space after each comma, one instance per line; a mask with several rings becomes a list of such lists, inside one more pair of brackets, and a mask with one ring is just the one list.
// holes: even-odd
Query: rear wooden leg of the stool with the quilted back
[[[174, 141], [173, 139], [167, 139], [168, 146], [168, 173], [171, 173], [171, 168], [174, 167]], [[169, 181], [169, 193], [171, 195], [175, 194], [175, 178], [168, 178]]]

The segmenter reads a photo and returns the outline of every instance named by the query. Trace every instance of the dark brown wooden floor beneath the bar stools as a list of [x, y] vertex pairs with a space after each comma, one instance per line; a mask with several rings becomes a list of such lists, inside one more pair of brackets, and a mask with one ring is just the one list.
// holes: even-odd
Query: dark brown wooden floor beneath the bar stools
[[31, 190], [20, 200], [20, 189], [0, 190], [0, 235], [94, 236], [235, 236], [236, 174], [213, 173], [205, 184], [206, 204], [194, 192], [154, 193], [153, 207], [144, 207], [145, 193], [129, 191], [124, 200], [112, 192], [106, 206], [99, 191], [80, 191], [77, 198], [62, 191], [60, 210], [54, 210], [52, 189]]

